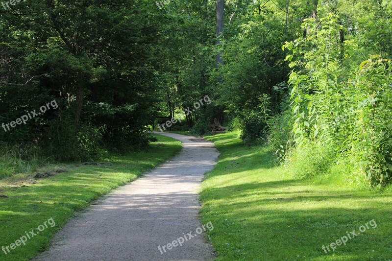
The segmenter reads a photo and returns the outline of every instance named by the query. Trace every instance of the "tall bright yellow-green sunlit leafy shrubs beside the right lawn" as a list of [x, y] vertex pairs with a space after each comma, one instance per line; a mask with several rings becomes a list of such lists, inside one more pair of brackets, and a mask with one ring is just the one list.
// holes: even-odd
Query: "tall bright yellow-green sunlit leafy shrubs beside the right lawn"
[[349, 171], [365, 172], [372, 185], [381, 187], [392, 170], [391, 62], [372, 55], [353, 64], [358, 42], [341, 41], [343, 26], [335, 14], [318, 23], [306, 20], [304, 27], [309, 36], [285, 45], [294, 68], [289, 79], [292, 118], [285, 122], [291, 135], [285, 149], [296, 162], [313, 154], [307, 166], [300, 166], [300, 176], [344, 161], [352, 166]]

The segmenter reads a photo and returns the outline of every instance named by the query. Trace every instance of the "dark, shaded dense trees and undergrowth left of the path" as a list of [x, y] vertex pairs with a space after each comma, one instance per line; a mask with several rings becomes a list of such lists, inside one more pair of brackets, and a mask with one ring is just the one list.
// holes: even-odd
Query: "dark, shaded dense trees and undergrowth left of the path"
[[[0, 121], [55, 100], [0, 140], [35, 144], [31, 157], [90, 160], [106, 149], [144, 149], [157, 101], [158, 23], [146, 2], [23, 1], [0, 9]], [[12, 125], [11, 125], [12, 126]], [[27, 145], [26, 147], [29, 147]]]

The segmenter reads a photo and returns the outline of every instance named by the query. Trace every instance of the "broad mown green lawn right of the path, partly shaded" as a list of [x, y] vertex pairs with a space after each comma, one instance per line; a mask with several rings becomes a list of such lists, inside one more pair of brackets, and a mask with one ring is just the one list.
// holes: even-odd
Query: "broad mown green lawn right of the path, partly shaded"
[[[217, 260], [392, 260], [390, 189], [342, 188], [330, 177], [298, 180], [290, 166], [274, 164], [269, 149], [245, 146], [237, 133], [205, 138], [221, 152], [201, 192]], [[375, 229], [322, 250], [372, 219]]]

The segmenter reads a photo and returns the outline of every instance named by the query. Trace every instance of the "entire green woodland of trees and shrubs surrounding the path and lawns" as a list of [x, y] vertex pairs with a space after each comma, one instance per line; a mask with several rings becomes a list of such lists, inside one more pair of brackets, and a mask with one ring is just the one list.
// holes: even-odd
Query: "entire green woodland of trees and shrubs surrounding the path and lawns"
[[229, 133], [294, 182], [390, 191], [391, 59], [391, 0], [3, 0], [0, 184], [148, 157], [155, 131], [223, 152]]

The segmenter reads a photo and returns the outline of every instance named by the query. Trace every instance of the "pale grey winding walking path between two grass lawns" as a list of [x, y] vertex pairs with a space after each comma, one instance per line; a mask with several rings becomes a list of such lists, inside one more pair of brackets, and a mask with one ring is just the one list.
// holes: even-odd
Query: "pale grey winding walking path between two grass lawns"
[[[214, 167], [219, 152], [213, 143], [196, 137], [163, 135], [183, 143], [177, 156], [99, 199], [68, 222], [49, 250], [34, 260], [212, 260], [212, 247], [204, 233], [196, 233], [204, 225], [197, 219], [197, 193], [203, 174]], [[195, 237], [161, 254], [159, 245], [191, 231]]]

